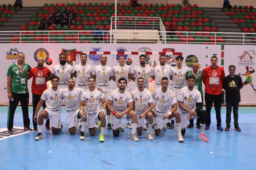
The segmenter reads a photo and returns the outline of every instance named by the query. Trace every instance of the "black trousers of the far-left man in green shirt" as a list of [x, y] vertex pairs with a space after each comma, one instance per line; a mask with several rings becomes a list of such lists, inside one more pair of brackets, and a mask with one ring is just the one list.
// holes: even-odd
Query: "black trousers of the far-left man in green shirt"
[[7, 128], [13, 128], [13, 120], [14, 113], [16, 108], [21, 102], [21, 109], [23, 115], [23, 124], [24, 127], [29, 127], [30, 119], [29, 119], [29, 93], [12, 93], [13, 101], [9, 100], [9, 108], [8, 108], [8, 118], [7, 118]]

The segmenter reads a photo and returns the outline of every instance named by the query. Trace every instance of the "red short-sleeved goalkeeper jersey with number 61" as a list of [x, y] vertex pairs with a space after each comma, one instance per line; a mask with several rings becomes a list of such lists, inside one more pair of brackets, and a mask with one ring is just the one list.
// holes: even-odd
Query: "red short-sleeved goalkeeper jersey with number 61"
[[50, 73], [51, 71], [46, 67], [43, 67], [42, 69], [34, 67], [33, 69], [29, 70], [28, 79], [33, 77], [32, 86], [31, 86], [33, 94], [39, 94], [39, 95], [43, 94], [44, 90], [47, 89], [46, 77]]

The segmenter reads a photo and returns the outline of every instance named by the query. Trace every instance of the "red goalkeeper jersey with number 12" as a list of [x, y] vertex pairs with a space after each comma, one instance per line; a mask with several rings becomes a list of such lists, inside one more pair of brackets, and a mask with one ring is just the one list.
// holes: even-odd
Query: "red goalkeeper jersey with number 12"
[[220, 66], [206, 67], [203, 70], [202, 81], [205, 85], [205, 93], [219, 95], [222, 93], [222, 82], [225, 77], [224, 69]]

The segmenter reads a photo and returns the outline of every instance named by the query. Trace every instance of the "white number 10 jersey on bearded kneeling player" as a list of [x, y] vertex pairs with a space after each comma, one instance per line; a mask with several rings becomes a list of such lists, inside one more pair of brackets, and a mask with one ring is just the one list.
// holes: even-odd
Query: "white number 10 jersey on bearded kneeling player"
[[114, 111], [121, 113], [127, 109], [127, 104], [132, 102], [132, 95], [126, 90], [124, 93], [120, 93], [119, 89], [116, 89], [109, 93], [108, 100], [112, 101], [111, 107]]

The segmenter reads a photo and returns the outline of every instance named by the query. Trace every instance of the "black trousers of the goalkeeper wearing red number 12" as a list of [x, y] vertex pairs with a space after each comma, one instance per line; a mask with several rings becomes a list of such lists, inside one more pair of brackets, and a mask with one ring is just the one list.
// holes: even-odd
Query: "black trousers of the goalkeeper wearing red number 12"
[[221, 126], [220, 109], [221, 109], [221, 103], [222, 103], [222, 94], [213, 95], [213, 94], [205, 93], [204, 97], [205, 97], [205, 108], [207, 112], [206, 126], [210, 126], [211, 124], [211, 109], [212, 109], [213, 100], [214, 100], [214, 108], [216, 112], [217, 126]]

